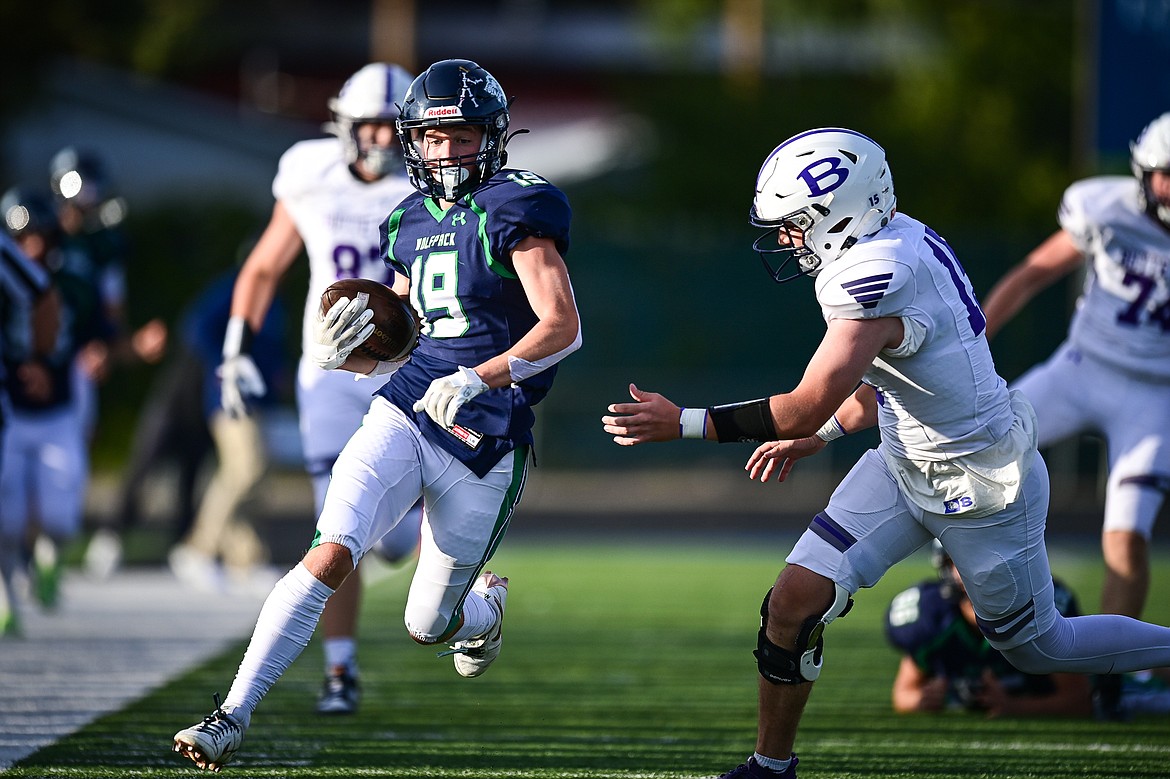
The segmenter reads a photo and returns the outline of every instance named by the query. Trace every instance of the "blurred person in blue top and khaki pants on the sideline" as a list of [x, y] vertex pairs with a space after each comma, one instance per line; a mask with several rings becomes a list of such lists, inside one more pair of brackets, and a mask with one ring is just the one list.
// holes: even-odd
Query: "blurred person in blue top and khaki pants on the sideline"
[[[276, 393], [260, 399], [250, 414], [233, 415], [221, 407], [216, 367], [235, 280], [235, 269], [212, 280], [179, 323], [184, 349], [201, 368], [199, 413], [215, 444], [216, 467], [190, 531], [171, 549], [167, 563], [178, 579], [197, 590], [242, 587], [267, 592], [278, 577], [268, 567], [268, 546], [249, 511], [269, 467], [261, 409], [275, 401]], [[274, 297], [253, 342], [253, 365], [270, 387], [278, 386], [284, 371], [284, 306], [280, 297]]]

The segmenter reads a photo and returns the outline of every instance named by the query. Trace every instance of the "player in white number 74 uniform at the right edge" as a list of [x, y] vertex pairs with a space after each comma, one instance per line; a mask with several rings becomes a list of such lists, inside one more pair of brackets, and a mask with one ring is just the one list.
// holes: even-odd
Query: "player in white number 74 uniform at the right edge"
[[1149, 539], [1170, 491], [1170, 113], [1131, 146], [1134, 177], [1065, 192], [1060, 229], [987, 295], [994, 336], [1040, 290], [1082, 267], [1068, 336], [1013, 386], [1035, 408], [1039, 446], [1080, 433], [1108, 444], [1101, 611], [1141, 616]]

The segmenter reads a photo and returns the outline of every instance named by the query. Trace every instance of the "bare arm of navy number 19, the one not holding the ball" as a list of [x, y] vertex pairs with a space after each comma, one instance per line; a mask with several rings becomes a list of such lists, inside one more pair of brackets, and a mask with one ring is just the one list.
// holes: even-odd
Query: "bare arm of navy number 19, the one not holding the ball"
[[511, 257], [539, 320], [507, 353], [475, 366], [489, 387], [505, 387], [516, 380], [515, 360], [535, 365], [562, 352], [567, 354], [566, 350], [580, 343], [580, 317], [569, 269], [553, 241], [530, 235], [516, 246]]

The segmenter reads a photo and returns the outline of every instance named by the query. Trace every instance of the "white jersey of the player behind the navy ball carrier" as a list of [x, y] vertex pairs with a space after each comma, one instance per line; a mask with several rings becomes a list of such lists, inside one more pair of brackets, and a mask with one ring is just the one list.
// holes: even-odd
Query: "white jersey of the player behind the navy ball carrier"
[[312, 343], [321, 294], [339, 278], [393, 283], [378, 253], [378, 227], [414, 188], [401, 174], [362, 181], [350, 172], [336, 138], [303, 140], [281, 157], [273, 194], [296, 222], [309, 255], [309, 294], [302, 347]]

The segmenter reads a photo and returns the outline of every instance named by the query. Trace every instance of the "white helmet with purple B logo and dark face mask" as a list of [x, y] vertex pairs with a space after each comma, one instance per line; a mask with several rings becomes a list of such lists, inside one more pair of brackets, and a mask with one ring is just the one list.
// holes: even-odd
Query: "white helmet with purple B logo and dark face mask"
[[[808, 130], [772, 150], [759, 168], [751, 223], [768, 232], [753, 247], [777, 282], [815, 276], [885, 227], [895, 202], [881, 146], [853, 130]], [[791, 260], [799, 270], [782, 277]]]

